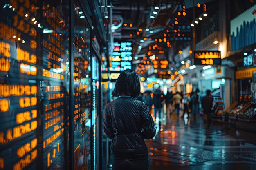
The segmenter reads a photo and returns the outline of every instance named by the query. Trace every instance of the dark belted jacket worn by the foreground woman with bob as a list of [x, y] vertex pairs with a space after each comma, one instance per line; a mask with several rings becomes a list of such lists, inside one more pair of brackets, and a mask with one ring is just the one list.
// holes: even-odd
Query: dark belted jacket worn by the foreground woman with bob
[[[110, 104], [112, 112], [110, 112]], [[113, 116], [113, 117], [112, 117]], [[115, 121], [115, 125], [112, 124]], [[105, 109], [104, 130], [112, 139], [110, 150], [114, 157], [147, 156], [148, 150], [143, 139], [155, 136], [155, 123], [144, 102], [133, 97], [120, 96], [107, 104]], [[117, 128], [114, 135], [113, 126]], [[121, 132], [132, 132], [124, 134]]]

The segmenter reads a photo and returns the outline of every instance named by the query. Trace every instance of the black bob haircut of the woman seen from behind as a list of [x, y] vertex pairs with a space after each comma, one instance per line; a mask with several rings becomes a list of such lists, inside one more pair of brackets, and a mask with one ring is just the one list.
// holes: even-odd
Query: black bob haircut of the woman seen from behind
[[118, 97], [121, 95], [128, 95], [138, 97], [140, 92], [139, 77], [135, 71], [130, 69], [124, 70], [117, 78], [115, 88], [112, 96]]

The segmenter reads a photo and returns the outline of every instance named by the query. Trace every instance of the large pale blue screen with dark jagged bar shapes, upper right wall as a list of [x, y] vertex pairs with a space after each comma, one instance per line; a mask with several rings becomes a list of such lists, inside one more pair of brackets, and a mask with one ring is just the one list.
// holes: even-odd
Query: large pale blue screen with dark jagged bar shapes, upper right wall
[[231, 51], [256, 43], [256, 18], [252, 11], [256, 4], [230, 21]]

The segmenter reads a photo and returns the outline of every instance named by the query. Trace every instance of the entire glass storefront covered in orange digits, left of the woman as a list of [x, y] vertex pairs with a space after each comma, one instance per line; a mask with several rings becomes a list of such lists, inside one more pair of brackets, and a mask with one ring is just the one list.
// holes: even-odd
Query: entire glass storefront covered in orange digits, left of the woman
[[87, 5], [8, 0], [0, 6], [4, 168], [102, 169], [101, 56]]

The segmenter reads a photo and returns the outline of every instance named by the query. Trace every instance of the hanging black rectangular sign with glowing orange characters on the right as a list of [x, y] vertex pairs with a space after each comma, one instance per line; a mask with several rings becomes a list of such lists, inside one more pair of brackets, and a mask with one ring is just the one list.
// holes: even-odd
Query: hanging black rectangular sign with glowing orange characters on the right
[[220, 51], [195, 51], [195, 65], [221, 65]]

